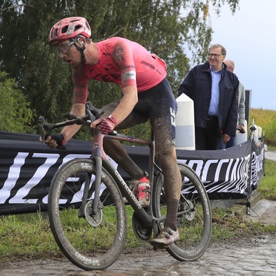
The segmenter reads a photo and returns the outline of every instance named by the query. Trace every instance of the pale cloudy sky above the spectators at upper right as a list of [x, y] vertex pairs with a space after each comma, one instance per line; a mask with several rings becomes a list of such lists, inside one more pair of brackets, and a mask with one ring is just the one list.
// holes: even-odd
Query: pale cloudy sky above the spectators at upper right
[[210, 10], [211, 44], [226, 48], [235, 74], [252, 90], [250, 108], [276, 110], [276, 0], [239, 0], [233, 15], [228, 4], [220, 17]]

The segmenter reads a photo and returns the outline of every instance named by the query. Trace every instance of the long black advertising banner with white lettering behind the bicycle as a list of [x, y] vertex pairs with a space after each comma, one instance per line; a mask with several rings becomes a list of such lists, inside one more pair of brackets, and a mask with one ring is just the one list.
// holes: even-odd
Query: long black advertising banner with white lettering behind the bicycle
[[[48, 188], [59, 166], [91, 155], [92, 141], [72, 139], [66, 146], [50, 150], [39, 143], [39, 135], [0, 131], [0, 215], [47, 210]], [[148, 170], [148, 148], [126, 150]], [[177, 158], [197, 172], [210, 199], [250, 197], [264, 175], [264, 146], [253, 140], [226, 150], [177, 150]], [[117, 170], [128, 179], [124, 170]]]

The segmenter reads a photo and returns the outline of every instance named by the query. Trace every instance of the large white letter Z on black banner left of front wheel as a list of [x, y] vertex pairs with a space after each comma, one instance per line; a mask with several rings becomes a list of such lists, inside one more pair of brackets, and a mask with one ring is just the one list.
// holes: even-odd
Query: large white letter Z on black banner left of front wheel
[[17, 194], [14, 195], [9, 200], [9, 204], [36, 204], [38, 199], [23, 199], [23, 197], [26, 197], [28, 193], [30, 193], [30, 190], [39, 184], [41, 179], [45, 177], [46, 173], [48, 172], [49, 168], [57, 163], [57, 160], [59, 159], [60, 155], [58, 154], [48, 154], [48, 153], [34, 153], [32, 155], [34, 158], [46, 158], [45, 162], [37, 168], [36, 172], [34, 172], [34, 175], [32, 178], [26, 183], [25, 186], [17, 190]]

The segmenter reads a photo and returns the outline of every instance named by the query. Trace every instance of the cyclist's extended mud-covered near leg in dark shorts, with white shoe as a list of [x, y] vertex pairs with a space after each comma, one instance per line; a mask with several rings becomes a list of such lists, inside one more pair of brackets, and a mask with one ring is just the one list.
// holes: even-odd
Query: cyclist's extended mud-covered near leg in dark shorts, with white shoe
[[164, 175], [167, 217], [164, 229], [151, 243], [168, 246], [179, 239], [177, 210], [181, 193], [181, 174], [175, 150], [175, 114], [177, 103], [170, 84], [164, 79], [154, 88], [138, 95], [135, 109], [148, 115], [155, 137], [155, 151]]

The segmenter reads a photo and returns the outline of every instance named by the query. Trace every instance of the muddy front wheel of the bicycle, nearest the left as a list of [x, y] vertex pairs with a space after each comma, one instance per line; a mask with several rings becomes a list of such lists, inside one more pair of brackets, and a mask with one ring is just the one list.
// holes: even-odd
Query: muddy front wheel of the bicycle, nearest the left
[[[95, 161], [73, 159], [52, 179], [48, 212], [59, 248], [76, 266], [102, 270], [121, 254], [126, 241], [126, 208], [115, 180], [102, 168], [99, 208], [92, 215]], [[80, 215], [85, 182], [90, 186], [84, 213]]]

